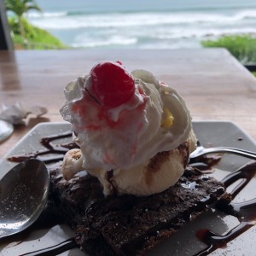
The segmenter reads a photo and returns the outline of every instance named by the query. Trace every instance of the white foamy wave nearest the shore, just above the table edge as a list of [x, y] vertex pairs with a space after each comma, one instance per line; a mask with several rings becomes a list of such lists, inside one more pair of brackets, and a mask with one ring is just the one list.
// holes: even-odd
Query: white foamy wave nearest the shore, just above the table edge
[[94, 36], [90, 32], [80, 32], [73, 38], [71, 46], [76, 48], [111, 48], [111, 47], [136, 47], [138, 49], [177, 49], [180, 47], [200, 47], [202, 40], [218, 38], [222, 35], [237, 33], [253, 33], [256, 28], [219, 28], [219, 29], [183, 29], [151, 31], [120, 31], [117, 33], [102, 32]]

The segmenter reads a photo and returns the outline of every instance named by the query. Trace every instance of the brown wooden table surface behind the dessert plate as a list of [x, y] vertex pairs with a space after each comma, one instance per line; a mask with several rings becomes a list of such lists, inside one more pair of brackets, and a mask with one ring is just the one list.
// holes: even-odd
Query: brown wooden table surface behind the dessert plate
[[143, 68], [183, 96], [194, 120], [230, 120], [256, 139], [256, 79], [225, 49], [81, 49], [0, 51], [0, 102], [40, 104], [49, 112], [0, 144], [0, 157], [39, 122], [62, 121], [59, 108], [67, 82], [96, 61], [122, 61]]

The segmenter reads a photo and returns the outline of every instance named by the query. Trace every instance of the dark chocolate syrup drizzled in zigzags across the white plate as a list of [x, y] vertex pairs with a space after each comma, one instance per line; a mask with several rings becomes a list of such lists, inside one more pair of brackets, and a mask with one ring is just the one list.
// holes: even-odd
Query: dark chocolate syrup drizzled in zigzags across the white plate
[[[67, 152], [67, 150], [78, 147], [74, 143], [54, 144], [53, 141], [71, 136], [71, 132], [65, 132], [59, 135], [44, 137], [42, 138], [41, 143], [44, 145], [45, 149], [30, 154], [13, 155], [9, 157], [9, 160], [20, 162], [29, 158], [37, 158], [39, 160], [43, 160], [46, 164], [57, 162], [63, 159], [63, 155]], [[55, 154], [55, 156], [49, 156], [48, 154]], [[213, 162], [214, 161], [218, 162], [218, 159], [213, 160]], [[197, 167], [202, 166], [203, 168], [201, 169], [204, 170], [207, 169], [206, 166], [208, 166], [208, 169], [212, 166], [211, 162], [209, 162], [209, 159], [201, 159], [199, 163], [200, 164], [197, 165]], [[196, 166], [196, 163], [194, 164]], [[241, 180], [241, 182], [236, 185], [236, 188], [230, 192], [232, 200], [235, 199], [236, 195], [241, 192], [242, 189], [244, 189], [244, 187], [247, 185], [247, 183], [250, 182], [255, 174], [256, 161], [253, 161], [246, 166], [242, 166], [236, 172], [232, 172], [228, 176], [224, 177], [222, 182], [226, 188], [228, 188], [231, 184], [236, 183], [236, 181]], [[206, 243], [207, 247], [201, 250], [201, 252], [196, 253], [195, 255], [197, 256], [208, 255], [218, 248], [225, 247], [228, 242], [232, 241], [237, 236], [240, 236], [243, 232], [253, 227], [253, 225], [256, 223], [256, 198], [240, 203], [220, 199], [215, 207], [219, 211], [236, 217], [240, 221], [240, 224], [238, 224], [234, 229], [228, 231], [224, 235], [219, 235], [214, 233], [212, 230], [207, 229], [198, 230], [196, 233], [197, 238]], [[56, 255], [56, 253], [64, 253], [74, 247], [78, 247], [78, 245], [76, 244], [75, 239], [71, 238], [67, 241], [61, 242], [58, 245], [55, 245], [54, 247], [44, 248], [42, 250], [26, 253], [23, 255]]]

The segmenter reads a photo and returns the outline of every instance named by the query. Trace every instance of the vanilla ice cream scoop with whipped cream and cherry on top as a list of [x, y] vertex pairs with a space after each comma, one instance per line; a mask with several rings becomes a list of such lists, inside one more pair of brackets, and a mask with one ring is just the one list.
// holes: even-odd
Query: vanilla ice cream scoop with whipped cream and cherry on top
[[183, 174], [196, 141], [189, 110], [177, 91], [152, 73], [128, 73], [120, 62], [101, 62], [67, 84], [64, 93], [61, 114], [81, 150], [79, 159], [65, 157], [64, 177], [84, 169], [99, 178], [106, 195], [150, 195]]

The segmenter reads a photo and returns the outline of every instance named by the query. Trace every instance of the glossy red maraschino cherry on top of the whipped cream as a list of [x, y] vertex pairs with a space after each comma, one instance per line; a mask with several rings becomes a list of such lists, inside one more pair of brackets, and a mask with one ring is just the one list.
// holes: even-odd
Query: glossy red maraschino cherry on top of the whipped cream
[[100, 62], [91, 69], [90, 75], [93, 95], [103, 107], [119, 107], [134, 94], [134, 79], [120, 61]]

